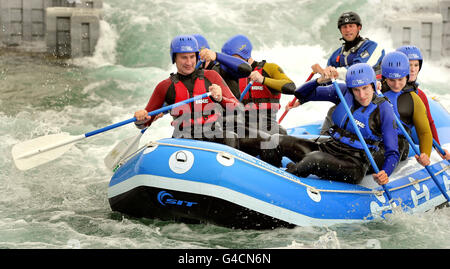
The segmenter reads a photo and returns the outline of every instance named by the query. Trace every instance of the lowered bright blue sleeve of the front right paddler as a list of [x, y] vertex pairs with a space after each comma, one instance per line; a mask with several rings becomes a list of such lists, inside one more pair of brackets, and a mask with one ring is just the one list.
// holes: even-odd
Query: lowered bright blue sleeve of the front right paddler
[[398, 135], [395, 125], [394, 111], [389, 102], [383, 102], [379, 106], [380, 109], [380, 121], [381, 121], [381, 133], [383, 136], [384, 144], [384, 165], [382, 170], [386, 172], [388, 176], [392, 174], [395, 167], [397, 167], [400, 159], [400, 153], [398, 151]]

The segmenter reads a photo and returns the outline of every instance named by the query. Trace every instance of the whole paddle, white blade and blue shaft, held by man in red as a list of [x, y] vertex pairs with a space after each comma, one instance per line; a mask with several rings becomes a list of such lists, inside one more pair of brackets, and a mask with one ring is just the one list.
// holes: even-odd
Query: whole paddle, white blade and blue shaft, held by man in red
[[[199, 99], [210, 96], [211, 93], [205, 93], [195, 96], [184, 101], [162, 107], [160, 109], [151, 111], [149, 116], [158, 115], [159, 113], [169, 111], [175, 107], [194, 102]], [[126, 125], [131, 122], [135, 122], [137, 119], [133, 117], [131, 119], [121, 121], [97, 130], [94, 130], [84, 135], [71, 136], [68, 133], [52, 134], [34, 138], [28, 141], [18, 143], [13, 146], [11, 153], [14, 163], [20, 170], [28, 170], [33, 167], [39, 166], [46, 162], [52, 161], [68, 151], [75, 142], [88, 138], [90, 136], [109, 131], [111, 129]]]

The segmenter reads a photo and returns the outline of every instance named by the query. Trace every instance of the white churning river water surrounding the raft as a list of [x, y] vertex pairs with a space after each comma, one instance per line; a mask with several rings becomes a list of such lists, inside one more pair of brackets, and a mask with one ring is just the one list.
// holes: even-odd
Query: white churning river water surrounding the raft
[[[358, 12], [362, 36], [388, 52], [394, 48], [382, 13], [398, 12], [407, 3], [105, 0], [92, 57], [61, 62], [3, 53], [0, 248], [450, 248], [449, 208], [393, 214], [366, 224], [272, 231], [125, 218], [109, 207], [112, 174], [103, 158], [115, 143], [137, 134], [132, 124], [79, 143], [63, 157], [29, 171], [19, 171], [11, 159], [12, 145], [21, 141], [58, 132], [78, 135], [132, 117], [156, 84], [174, 71], [169, 42], [177, 34], [203, 34], [216, 51], [231, 35], [245, 34], [256, 60], [277, 63], [299, 86], [313, 64], [324, 66], [340, 46], [336, 20], [342, 12]], [[419, 81], [428, 96], [449, 108], [447, 73], [441, 62], [424, 61]], [[291, 99], [283, 96], [282, 107]], [[316, 102], [296, 108], [283, 125], [322, 120], [330, 106]], [[169, 123], [168, 116], [158, 120], [141, 141], [170, 136]]]

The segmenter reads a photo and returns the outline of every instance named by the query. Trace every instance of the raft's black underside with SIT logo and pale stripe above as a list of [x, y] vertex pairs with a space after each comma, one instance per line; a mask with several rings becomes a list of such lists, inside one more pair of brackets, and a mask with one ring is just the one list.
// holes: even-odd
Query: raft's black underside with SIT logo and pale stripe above
[[[168, 196], [169, 201], [159, 200], [162, 195]], [[227, 223], [234, 223], [234, 227], [245, 226], [245, 228], [250, 228], [249, 225], [252, 223], [255, 227], [251, 228], [267, 228], [292, 224], [329, 226], [366, 221], [311, 218], [225, 187], [154, 175], [136, 175], [111, 186], [108, 189], [108, 198], [113, 210], [125, 214], [133, 210], [130, 215], [136, 217], [178, 216], [206, 222], [212, 220], [213, 223], [230, 226], [218, 223], [224, 220]], [[214, 220], [215, 214], [220, 215], [217, 220]], [[235, 219], [237, 217], [247, 220], [237, 220]], [[242, 221], [246, 224], [242, 224]], [[258, 221], [264, 223], [258, 224], [256, 223]]]

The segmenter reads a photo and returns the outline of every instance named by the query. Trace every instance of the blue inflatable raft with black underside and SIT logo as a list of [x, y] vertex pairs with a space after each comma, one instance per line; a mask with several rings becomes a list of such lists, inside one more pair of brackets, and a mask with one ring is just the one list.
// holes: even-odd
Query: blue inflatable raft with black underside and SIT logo
[[[429, 100], [441, 144], [450, 143], [450, 115]], [[311, 137], [320, 124], [289, 129]], [[410, 155], [412, 150], [410, 150]], [[450, 194], [449, 163], [436, 152], [431, 171]], [[137, 218], [212, 223], [242, 229], [366, 222], [395, 210], [424, 212], [446, 199], [414, 159], [401, 162], [386, 185], [394, 204], [370, 175], [352, 185], [300, 178], [231, 147], [189, 139], [150, 142], [114, 173], [113, 211]]]

